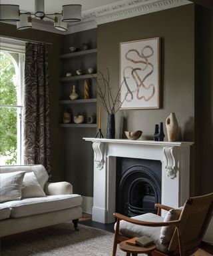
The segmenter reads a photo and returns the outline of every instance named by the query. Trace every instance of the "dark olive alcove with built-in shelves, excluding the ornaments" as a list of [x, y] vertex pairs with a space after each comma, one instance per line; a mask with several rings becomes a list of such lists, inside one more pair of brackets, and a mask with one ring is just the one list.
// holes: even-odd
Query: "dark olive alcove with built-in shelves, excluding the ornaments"
[[[59, 129], [62, 140], [61, 157], [65, 181], [73, 185], [73, 193], [84, 196], [85, 204], [93, 197], [93, 149], [91, 143], [85, 143], [83, 137], [95, 137], [97, 134], [97, 29], [79, 31], [65, 35], [62, 54], [59, 55], [61, 75], [59, 78]], [[87, 43], [89, 49], [83, 50]], [[79, 51], [71, 52], [70, 47]], [[88, 72], [93, 68], [93, 73]], [[83, 71], [77, 75], [77, 70]], [[67, 77], [67, 73], [72, 73]], [[85, 79], [89, 81], [89, 99], [84, 99]], [[75, 85], [78, 99], [71, 100], [69, 95]], [[71, 112], [71, 123], [63, 123], [63, 113]], [[85, 121], [76, 124], [75, 115], [83, 115]], [[88, 117], [94, 117], [88, 123]], [[89, 201], [87, 201], [87, 199]]]

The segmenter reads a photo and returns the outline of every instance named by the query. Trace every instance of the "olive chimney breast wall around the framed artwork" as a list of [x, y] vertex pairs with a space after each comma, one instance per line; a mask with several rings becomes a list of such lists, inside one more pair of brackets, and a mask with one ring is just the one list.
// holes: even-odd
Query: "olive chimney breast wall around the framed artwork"
[[[116, 138], [123, 131], [142, 130], [143, 139], [152, 139], [154, 125], [164, 122], [170, 112], [176, 113], [180, 127], [179, 141], [194, 141], [194, 5], [141, 15], [98, 26], [98, 69], [110, 70], [114, 91], [119, 85], [119, 44], [160, 37], [160, 109], [122, 110], [116, 113]], [[103, 131], [106, 135], [107, 114], [102, 111]], [[165, 141], [167, 140], [167, 135]], [[198, 175], [194, 170], [194, 148], [191, 154], [190, 191]]]

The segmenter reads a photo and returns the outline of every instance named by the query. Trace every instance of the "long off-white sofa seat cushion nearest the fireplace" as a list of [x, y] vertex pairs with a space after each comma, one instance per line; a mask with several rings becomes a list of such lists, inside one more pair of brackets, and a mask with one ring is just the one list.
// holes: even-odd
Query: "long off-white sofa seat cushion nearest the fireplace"
[[20, 218], [77, 207], [81, 203], [81, 195], [72, 194], [25, 198], [20, 201], [5, 202], [2, 205], [11, 208], [11, 218]]

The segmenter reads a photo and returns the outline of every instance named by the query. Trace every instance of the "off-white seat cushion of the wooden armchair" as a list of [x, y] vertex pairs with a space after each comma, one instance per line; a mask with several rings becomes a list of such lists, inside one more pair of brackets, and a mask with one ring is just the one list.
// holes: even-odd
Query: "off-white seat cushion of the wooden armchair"
[[[138, 219], [139, 221], [148, 221], [148, 222], [162, 222], [164, 218], [153, 213], [146, 213], [143, 215], [138, 215], [132, 217], [132, 219]], [[142, 235], [147, 235], [150, 237], [156, 247], [160, 251], [167, 251], [168, 245], [162, 245], [160, 243], [160, 231], [161, 227], [145, 227], [142, 225], [135, 225], [126, 221], [120, 221], [119, 233], [125, 237], [142, 237]]]

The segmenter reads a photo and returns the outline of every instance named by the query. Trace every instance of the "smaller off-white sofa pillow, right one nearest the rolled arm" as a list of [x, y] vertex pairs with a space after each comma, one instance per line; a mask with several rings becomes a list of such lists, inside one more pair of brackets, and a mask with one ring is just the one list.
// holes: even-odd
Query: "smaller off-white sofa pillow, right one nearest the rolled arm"
[[25, 173], [25, 177], [22, 183], [21, 193], [22, 193], [22, 198], [46, 197], [45, 192], [39, 185], [39, 182], [37, 181], [37, 177], [35, 177], [35, 174], [33, 173], [33, 171], [29, 173]]

